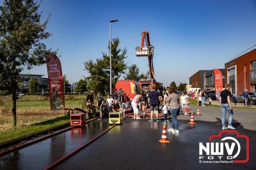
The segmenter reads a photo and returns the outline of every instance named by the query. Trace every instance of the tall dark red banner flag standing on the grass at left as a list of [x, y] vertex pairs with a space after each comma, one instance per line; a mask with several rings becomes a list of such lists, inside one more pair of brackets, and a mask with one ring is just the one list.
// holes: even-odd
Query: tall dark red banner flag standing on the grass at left
[[60, 59], [57, 56], [47, 56], [47, 73], [51, 110], [64, 109], [63, 77]]

